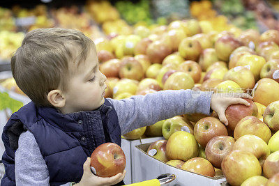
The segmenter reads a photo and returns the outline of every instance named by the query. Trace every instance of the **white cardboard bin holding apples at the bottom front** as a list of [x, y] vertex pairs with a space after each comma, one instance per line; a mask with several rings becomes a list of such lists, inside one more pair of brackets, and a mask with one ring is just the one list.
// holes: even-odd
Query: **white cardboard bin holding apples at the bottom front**
[[184, 171], [174, 166], [165, 164], [160, 160], [156, 160], [146, 153], [151, 143], [135, 146], [135, 166], [132, 169], [133, 182], [138, 183], [143, 180], [151, 180], [156, 178], [158, 174], [174, 173], [176, 175], [176, 185], [227, 185], [225, 176], [202, 176], [197, 173]]

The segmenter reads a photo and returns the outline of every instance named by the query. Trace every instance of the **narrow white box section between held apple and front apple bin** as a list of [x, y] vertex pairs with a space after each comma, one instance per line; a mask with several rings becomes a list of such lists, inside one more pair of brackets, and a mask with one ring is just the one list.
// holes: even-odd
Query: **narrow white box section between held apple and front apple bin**
[[[136, 139], [136, 140], [128, 140], [122, 139], [121, 140], [121, 148], [126, 156], [126, 176], [124, 178], [124, 183], [126, 185], [135, 183], [135, 178], [133, 177], [133, 170], [135, 169], [135, 146], [140, 144], [147, 144], [152, 143], [154, 141], [158, 141], [160, 139], [164, 139], [163, 137], [151, 137], [151, 138], [144, 138], [144, 139]], [[158, 176], [159, 174], [157, 174]], [[142, 180], [143, 181], [143, 180]]]

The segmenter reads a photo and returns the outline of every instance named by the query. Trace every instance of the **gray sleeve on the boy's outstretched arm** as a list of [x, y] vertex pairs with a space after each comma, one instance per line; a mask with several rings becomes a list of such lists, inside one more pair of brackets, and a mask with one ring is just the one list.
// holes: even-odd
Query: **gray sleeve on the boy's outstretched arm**
[[146, 95], [135, 95], [128, 99], [107, 98], [119, 118], [121, 134], [139, 127], [153, 125], [182, 114], [210, 114], [212, 92], [179, 90], [159, 91]]

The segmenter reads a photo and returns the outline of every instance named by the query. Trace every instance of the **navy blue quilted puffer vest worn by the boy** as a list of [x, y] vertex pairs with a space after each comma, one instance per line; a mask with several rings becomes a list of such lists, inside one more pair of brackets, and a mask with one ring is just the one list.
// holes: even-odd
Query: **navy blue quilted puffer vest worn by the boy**
[[[33, 102], [15, 112], [3, 129], [6, 174], [1, 185], [15, 185], [15, 150], [18, 138], [29, 130], [35, 137], [50, 173], [50, 185], [80, 182], [83, 164], [105, 142], [121, 145], [121, 130], [114, 107], [105, 99], [99, 109], [61, 114]], [[31, 163], [31, 162], [30, 162]], [[123, 182], [119, 183], [123, 185]]]

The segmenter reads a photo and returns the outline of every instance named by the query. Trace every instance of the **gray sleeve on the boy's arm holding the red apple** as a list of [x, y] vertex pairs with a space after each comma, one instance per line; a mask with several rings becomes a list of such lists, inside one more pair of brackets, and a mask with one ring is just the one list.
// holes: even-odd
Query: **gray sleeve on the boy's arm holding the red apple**
[[[16, 185], [50, 185], [47, 164], [40, 153], [37, 141], [29, 131], [20, 134], [15, 151]], [[63, 186], [70, 185], [66, 183]]]

